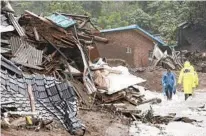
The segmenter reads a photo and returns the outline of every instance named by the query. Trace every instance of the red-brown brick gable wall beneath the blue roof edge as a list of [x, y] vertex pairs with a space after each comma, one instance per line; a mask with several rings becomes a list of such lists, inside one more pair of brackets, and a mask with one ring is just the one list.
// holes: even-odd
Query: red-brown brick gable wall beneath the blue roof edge
[[[154, 44], [151, 40], [139, 34], [136, 30], [103, 33], [109, 43], [97, 43], [101, 57], [123, 59], [132, 67], [148, 66], [149, 51]], [[126, 53], [127, 47], [132, 53]]]

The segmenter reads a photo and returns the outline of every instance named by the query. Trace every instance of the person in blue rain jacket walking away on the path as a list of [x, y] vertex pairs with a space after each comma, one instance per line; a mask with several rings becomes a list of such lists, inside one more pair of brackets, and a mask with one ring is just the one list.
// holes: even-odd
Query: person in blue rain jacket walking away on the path
[[176, 79], [175, 74], [167, 69], [167, 72], [162, 76], [162, 90], [163, 94], [167, 96], [168, 100], [172, 99], [172, 94], [176, 93]]

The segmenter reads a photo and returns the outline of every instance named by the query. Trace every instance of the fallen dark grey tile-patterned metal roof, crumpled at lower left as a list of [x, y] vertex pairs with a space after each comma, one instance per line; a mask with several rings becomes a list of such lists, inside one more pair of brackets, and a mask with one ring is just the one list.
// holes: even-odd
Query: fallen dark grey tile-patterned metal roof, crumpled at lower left
[[[52, 81], [52, 84], [50, 84]], [[75, 88], [44, 75], [24, 75], [23, 78], [11, 76], [0, 69], [1, 102], [14, 101], [12, 107], [17, 111], [31, 111], [27, 84], [31, 84], [36, 110], [44, 119], [58, 119], [71, 133], [85, 129], [77, 119], [77, 96]], [[4, 107], [9, 107], [5, 105]]]

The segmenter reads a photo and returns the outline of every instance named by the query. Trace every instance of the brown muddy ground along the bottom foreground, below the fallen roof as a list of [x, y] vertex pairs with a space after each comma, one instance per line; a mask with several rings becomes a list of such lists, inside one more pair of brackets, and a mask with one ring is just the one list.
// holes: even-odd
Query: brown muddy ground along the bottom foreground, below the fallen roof
[[[126, 136], [129, 131], [128, 119], [119, 117], [107, 111], [79, 111], [79, 119], [86, 125], [85, 136]], [[2, 129], [1, 136], [70, 136], [64, 129], [51, 130]]]

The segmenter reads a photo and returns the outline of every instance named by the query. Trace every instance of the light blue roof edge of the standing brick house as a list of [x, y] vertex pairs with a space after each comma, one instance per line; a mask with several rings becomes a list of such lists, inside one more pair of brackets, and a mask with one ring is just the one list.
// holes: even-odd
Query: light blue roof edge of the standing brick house
[[133, 30], [133, 29], [144, 33], [146, 36], [150, 37], [152, 40], [154, 40], [155, 42], [157, 42], [161, 45], [166, 45], [161, 39], [153, 36], [149, 32], [147, 32], [144, 29], [140, 28], [138, 25], [130, 25], [130, 26], [119, 27], [119, 28], [114, 28], [114, 29], [105, 29], [105, 30], [100, 30], [100, 32], [101, 33], [108, 33], [108, 32], [117, 32], [117, 31], [124, 31], [124, 30]]

